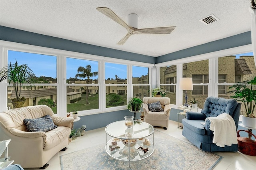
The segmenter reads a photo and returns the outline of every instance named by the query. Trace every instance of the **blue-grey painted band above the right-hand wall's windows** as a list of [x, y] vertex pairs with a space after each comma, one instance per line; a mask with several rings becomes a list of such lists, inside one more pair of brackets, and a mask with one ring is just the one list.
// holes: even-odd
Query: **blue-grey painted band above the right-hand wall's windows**
[[233, 47], [239, 47], [242, 45], [248, 45], [252, 43], [251, 31], [244, 32], [242, 34], [237, 34], [228, 38], [223, 38], [216, 40], [214, 42], [205, 43], [202, 45], [197, 45], [166, 55], [162, 55], [156, 58], [156, 63], [163, 63], [166, 61], [172, 61], [176, 59], [191, 57], [195, 55], [211, 53], [214, 51], [220, 51], [223, 49], [229, 49]]

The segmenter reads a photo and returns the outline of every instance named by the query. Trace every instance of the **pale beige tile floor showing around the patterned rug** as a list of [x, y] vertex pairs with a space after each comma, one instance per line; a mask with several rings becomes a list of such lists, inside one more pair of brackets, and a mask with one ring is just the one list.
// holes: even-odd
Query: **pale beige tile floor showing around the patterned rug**
[[[175, 121], [169, 122], [168, 130], [164, 130], [160, 127], [155, 127], [155, 129], [188, 142], [188, 140], [182, 136], [182, 129], [177, 128], [177, 122]], [[84, 136], [72, 140], [67, 146], [68, 149], [66, 151], [60, 151], [53, 156], [48, 162], [49, 166], [46, 170], [60, 170], [60, 155], [103, 144], [106, 141], [105, 138], [105, 127], [86, 131]], [[215, 166], [214, 170], [256, 170], [256, 156], [248, 156], [240, 152], [214, 153], [223, 156], [222, 160]], [[39, 170], [39, 168], [26, 168], [26, 170]]]

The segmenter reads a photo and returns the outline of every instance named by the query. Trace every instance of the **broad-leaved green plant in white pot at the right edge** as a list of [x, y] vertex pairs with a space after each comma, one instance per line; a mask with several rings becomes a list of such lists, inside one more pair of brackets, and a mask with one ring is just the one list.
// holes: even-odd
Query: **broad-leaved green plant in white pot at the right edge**
[[[236, 99], [244, 104], [245, 113], [242, 117], [242, 124], [247, 127], [256, 127], [256, 118], [254, 115], [254, 109], [256, 106], [256, 77], [250, 81], [238, 82], [229, 87], [229, 89], [234, 88], [234, 90], [227, 93], [234, 94], [230, 96], [231, 98]], [[247, 124], [248, 123], [248, 124]]]

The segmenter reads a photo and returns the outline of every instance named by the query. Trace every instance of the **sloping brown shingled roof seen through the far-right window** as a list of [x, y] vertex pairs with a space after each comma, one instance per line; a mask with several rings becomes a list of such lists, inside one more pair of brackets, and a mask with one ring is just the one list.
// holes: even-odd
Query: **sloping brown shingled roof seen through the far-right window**
[[235, 75], [252, 74], [245, 59], [235, 59]]

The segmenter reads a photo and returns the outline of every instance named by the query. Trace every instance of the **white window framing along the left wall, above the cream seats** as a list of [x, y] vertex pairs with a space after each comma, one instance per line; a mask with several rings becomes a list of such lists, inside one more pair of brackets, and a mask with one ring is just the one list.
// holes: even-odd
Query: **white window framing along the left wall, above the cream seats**
[[[98, 113], [105, 113], [109, 111], [118, 111], [127, 109], [127, 105], [121, 107], [111, 107], [106, 108], [106, 93], [104, 92], [106, 89], [105, 85], [105, 70], [104, 70], [104, 62], [113, 63], [113, 58], [111, 57], [103, 57], [98, 55], [90, 55], [86, 53], [78, 53], [60, 49], [52, 49], [47, 47], [39, 47], [36, 45], [28, 45], [22, 43], [15, 43], [15, 42], [7, 42], [0, 40], [0, 69], [8, 64], [8, 55], [7, 51], [23, 51], [29, 53], [38, 53], [38, 54], [45, 54], [45, 55], [55, 55], [57, 56], [57, 83], [51, 84], [57, 86], [57, 115], [66, 117], [66, 86], [70, 85], [66, 83], [66, 57], [73, 57], [77, 59], [86, 59], [86, 60], [93, 60], [98, 61], [98, 79], [99, 83], [94, 84], [94, 86], [99, 86], [99, 109], [93, 110], [86, 110], [86, 111], [79, 111], [79, 114], [82, 115], [93, 115]], [[127, 65], [127, 98], [133, 96], [133, 84], [132, 84], [132, 65], [139, 66], [139, 67], [148, 67], [149, 71], [149, 84], [151, 87], [151, 77], [152, 77], [152, 68], [154, 64], [150, 63], [142, 63], [138, 61], [129, 61], [124, 59], [114, 59], [114, 63], [124, 64]], [[81, 84], [77, 84], [81, 85]], [[88, 85], [88, 84], [86, 84]], [[92, 86], [92, 84], [89, 84]], [[7, 109], [7, 82], [0, 82], [0, 111], [5, 111]]]

